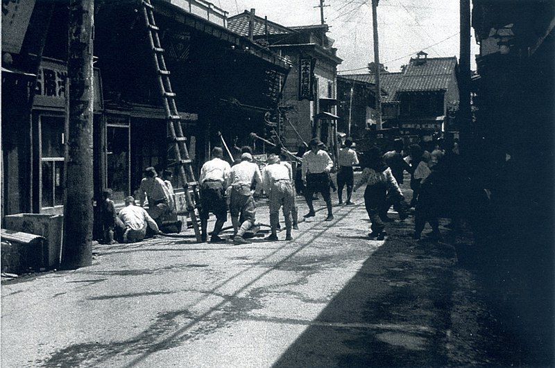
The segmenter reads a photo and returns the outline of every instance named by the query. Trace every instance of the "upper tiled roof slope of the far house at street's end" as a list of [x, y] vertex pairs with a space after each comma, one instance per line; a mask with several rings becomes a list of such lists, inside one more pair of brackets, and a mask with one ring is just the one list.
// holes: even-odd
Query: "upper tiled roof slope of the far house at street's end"
[[456, 58], [427, 58], [422, 64], [412, 59], [404, 71], [398, 92], [447, 90], [453, 78]]

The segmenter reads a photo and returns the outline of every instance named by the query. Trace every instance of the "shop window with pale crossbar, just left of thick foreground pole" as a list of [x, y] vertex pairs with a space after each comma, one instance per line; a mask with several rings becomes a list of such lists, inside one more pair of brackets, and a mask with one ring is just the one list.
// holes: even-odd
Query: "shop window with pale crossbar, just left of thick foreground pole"
[[41, 130], [41, 207], [64, 204], [64, 118], [40, 116]]

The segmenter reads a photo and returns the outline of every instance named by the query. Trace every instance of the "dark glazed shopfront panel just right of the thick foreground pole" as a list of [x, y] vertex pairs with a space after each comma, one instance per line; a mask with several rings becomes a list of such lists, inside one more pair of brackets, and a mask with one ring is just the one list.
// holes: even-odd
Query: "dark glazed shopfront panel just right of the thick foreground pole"
[[106, 129], [107, 185], [112, 199], [123, 200], [129, 189], [129, 128], [110, 126]]

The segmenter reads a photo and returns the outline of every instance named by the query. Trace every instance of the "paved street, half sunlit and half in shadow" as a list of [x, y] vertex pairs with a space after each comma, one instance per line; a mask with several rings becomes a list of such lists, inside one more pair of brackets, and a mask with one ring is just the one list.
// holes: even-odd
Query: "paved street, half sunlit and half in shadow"
[[[331, 223], [316, 201], [322, 210], [291, 242], [197, 244], [189, 230], [190, 238], [98, 245], [88, 268], [3, 281], [1, 366], [517, 362], [520, 345], [501, 336], [477, 274], [457, 258], [470, 235], [442, 226], [444, 241], [416, 242], [413, 218], [391, 212], [388, 238], [368, 240], [362, 193], [356, 206], [334, 207]], [[258, 218], [268, 223], [262, 202]]]

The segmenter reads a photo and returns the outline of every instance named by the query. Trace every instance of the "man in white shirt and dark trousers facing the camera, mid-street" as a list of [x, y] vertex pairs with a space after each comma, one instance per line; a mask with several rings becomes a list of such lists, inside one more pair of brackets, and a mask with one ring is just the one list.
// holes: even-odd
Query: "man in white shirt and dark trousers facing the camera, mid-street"
[[314, 217], [314, 206], [312, 205], [312, 195], [316, 192], [322, 194], [327, 207], [326, 221], [334, 219], [332, 213], [332, 199], [330, 198], [330, 170], [332, 170], [334, 163], [327, 155], [325, 150], [321, 150], [319, 146], [321, 141], [318, 138], [313, 138], [309, 141], [308, 146], [310, 150], [302, 155], [302, 182], [305, 183], [305, 199], [309, 212], [304, 216], [305, 218]]

